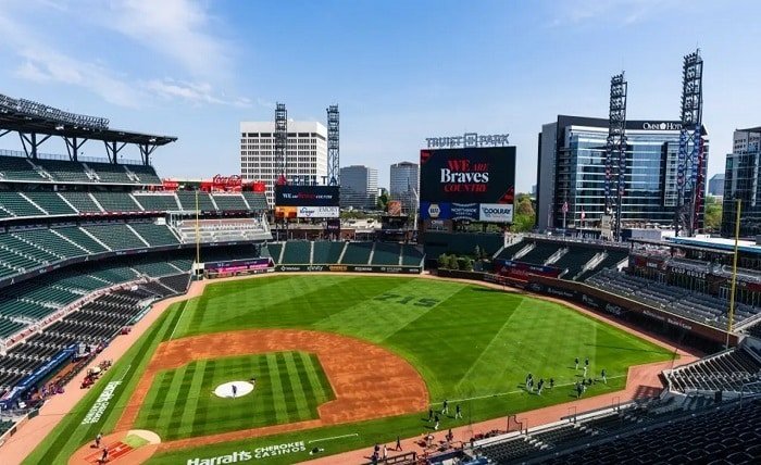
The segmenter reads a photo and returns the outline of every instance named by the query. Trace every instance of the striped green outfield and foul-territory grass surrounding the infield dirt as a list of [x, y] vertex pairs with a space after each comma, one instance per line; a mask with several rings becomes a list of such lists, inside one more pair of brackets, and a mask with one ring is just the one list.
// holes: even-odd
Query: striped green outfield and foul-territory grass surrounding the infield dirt
[[[163, 337], [242, 328], [307, 328], [380, 344], [421, 373], [434, 403], [448, 399], [452, 407], [462, 405], [464, 418], [445, 417], [442, 428], [572, 400], [571, 387], [579, 375], [573, 369], [576, 356], [589, 357], [589, 375], [599, 376], [602, 368], [608, 372], [608, 385], [595, 385], [587, 395], [623, 388], [631, 365], [672, 356], [665, 349], [560, 304], [474, 285], [411, 277], [277, 275], [234, 280], [211, 285], [202, 297], [167, 312], [169, 316], [157, 324], [162, 329], [153, 329]], [[170, 329], [164, 330], [166, 326]], [[148, 350], [132, 360], [133, 364], [144, 364], [154, 349], [154, 344], [144, 344]], [[554, 378], [556, 389], [541, 397], [525, 392], [522, 386], [527, 373], [536, 379]], [[122, 405], [126, 399], [126, 393], [118, 395]], [[179, 395], [177, 399], [182, 402]], [[78, 411], [86, 411], [92, 401], [86, 399]], [[113, 422], [103, 425], [108, 430]], [[320, 442], [335, 453], [395, 440], [397, 435], [419, 435], [427, 426], [423, 415], [407, 415], [163, 453], [151, 463], [185, 463], [240, 448], [355, 435]], [[87, 438], [75, 435], [68, 439], [62, 432], [59, 428], [54, 433], [58, 448], [53, 450], [48, 445], [52, 441], [46, 441], [33, 457], [66, 457]], [[260, 462], [290, 463], [308, 457], [302, 453]]]

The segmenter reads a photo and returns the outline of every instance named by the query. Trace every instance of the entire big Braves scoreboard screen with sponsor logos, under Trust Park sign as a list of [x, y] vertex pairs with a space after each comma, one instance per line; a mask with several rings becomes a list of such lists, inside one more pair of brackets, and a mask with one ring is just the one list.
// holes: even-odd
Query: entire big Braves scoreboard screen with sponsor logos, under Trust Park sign
[[512, 222], [515, 147], [420, 152], [423, 219]]

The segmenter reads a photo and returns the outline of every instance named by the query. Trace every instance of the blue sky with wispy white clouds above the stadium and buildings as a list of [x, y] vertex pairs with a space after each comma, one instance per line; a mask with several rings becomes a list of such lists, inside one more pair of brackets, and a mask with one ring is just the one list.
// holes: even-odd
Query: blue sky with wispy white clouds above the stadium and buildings
[[758, 1], [0, 0], [0, 93], [177, 136], [162, 176], [237, 173], [238, 122], [276, 101], [321, 122], [338, 103], [341, 165], [384, 186], [425, 137], [508, 133], [528, 190], [541, 124], [604, 117], [621, 70], [629, 118], [676, 120], [682, 56], [700, 47], [712, 175], [732, 131], [761, 125], [759, 17]]

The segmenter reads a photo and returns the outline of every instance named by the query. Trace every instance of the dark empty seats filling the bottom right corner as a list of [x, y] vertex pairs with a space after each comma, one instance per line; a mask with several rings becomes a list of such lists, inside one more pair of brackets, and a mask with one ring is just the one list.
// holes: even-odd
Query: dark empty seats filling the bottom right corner
[[711, 463], [761, 461], [761, 401], [711, 407], [633, 433], [549, 457], [548, 464]]

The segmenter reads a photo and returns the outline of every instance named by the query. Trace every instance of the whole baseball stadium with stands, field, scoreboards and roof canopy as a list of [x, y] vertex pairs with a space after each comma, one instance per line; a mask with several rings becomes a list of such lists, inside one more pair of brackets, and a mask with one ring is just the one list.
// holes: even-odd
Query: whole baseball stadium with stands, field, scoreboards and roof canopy
[[754, 243], [487, 227], [500, 144], [423, 150], [420, 227], [360, 232], [335, 186], [162, 179], [176, 138], [54, 110], [0, 96], [3, 464], [761, 457]]

